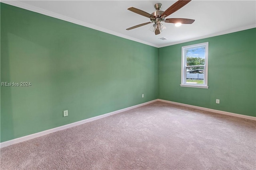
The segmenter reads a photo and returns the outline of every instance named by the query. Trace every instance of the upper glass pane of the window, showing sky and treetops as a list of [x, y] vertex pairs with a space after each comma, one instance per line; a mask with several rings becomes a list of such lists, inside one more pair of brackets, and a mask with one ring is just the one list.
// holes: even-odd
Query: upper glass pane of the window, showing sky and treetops
[[205, 46], [186, 49], [186, 64], [187, 66], [204, 65]]

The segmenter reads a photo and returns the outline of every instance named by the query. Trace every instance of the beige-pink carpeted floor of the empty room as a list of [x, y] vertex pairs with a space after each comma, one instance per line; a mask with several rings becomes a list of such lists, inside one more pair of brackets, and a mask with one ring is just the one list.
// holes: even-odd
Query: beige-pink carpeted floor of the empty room
[[163, 102], [1, 149], [5, 169], [256, 169], [256, 121]]

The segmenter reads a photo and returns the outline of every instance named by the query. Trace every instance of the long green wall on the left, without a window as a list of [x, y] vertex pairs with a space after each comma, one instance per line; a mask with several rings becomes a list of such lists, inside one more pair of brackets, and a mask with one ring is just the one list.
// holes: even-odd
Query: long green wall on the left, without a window
[[4, 142], [157, 99], [158, 49], [1, 3], [1, 82]]

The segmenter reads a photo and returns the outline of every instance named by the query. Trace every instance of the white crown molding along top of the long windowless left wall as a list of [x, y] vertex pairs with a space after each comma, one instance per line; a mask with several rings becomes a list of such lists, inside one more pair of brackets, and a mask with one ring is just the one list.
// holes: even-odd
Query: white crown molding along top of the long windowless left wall
[[158, 45], [156, 45], [156, 44], [152, 44], [152, 43], [149, 43], [149, 42], [146, 42], [146, 41], [142, 41], [140, 39], [136, 39], [136, 38], [133, 38], [133, 37], [121, 34], [121, 33], [117, 33], [115, 31], [111, 31], [109, 29], [105, 29], [105, 28], [102, 28], [102, 27], [98, 27], [96, 25], [92, 25], [90, 23], [86, 23], [86, 22], [83, 22], [83, 21], [80, 21], [80, 20], [76, 20], [76, 19], [70, 18], [68, 16], [57, 14], [55, 12], [44, 10], [44, 9], [38, 8], [36, 6], [28, 5], [28, 4], [25, 4], [25, 3], [21, 2], [21, 1], [2, 0], [1, 2], [4, 3], [4, 4], [16, 6], [18, 8], [23, 8], [25, 10], [29, 10], [29, 11], [32, 11], [32, 12], [37, 12], [39, 14], [43, 14], [43, 15], [50, 16], [50, 17], [53, 17], [53, 18], [57, 18], [57, 19], [64, 20], [64, 21], [68, 21], [68, 22], [71, 22], [71, 23], [82, 25], [84, 27], [92, 28], [92, 29], [95, 29], [95, 30], [98, 30], [98, 31], [102, 31], [104, 33], [109, 33], [109, 34], [112, 34], [112, 35], [116, 35], [118, 37], [122, 37], [122, 38], [125, 38], [125, 39], [136, 41], [138, 43], [142, 43], [142, 44], [146, 44], [146, 45], [150, 45], [152, 47], [157, 47], [158, 48]]

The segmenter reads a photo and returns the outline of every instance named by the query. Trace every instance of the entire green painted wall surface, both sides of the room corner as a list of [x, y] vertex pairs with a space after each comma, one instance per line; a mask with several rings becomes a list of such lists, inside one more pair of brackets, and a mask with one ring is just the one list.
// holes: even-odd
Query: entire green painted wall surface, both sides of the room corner
[[[1, 82], [32, 84], [1, 86], [1, 142], [157, 98], [256, 116], [255, 28], [157, 49], [1, 3], [0, 33]], [[181, 47], [203, 42], [209, 89], [180, 87]]]

